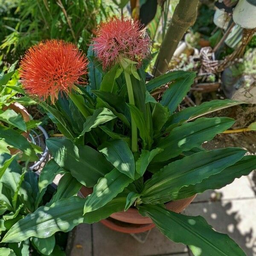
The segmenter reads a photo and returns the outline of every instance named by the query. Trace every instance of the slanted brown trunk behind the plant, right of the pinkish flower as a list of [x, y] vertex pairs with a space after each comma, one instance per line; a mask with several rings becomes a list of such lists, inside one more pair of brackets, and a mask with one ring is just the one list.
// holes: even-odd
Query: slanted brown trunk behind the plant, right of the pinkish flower
[[168, 64], [180, 40], [187, 29], [195, 23], [197, 5], [198, 0], [180, 0], [177, 4], [155, 62], [154, 76], [159, 76], [168, 70]]

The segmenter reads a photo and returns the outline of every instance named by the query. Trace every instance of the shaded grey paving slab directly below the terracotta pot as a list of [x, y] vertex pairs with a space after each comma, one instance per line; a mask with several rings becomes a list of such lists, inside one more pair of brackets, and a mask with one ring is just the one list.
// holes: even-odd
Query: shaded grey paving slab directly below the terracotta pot
[[[131, 235], [108, 229], [101, 223], [93, 224], [94, 256], [158, 256], [187, 252], [183, 244], [176, 244], [152, 229], [144, 244]], [[183, 253], [182, 256], [187, 256]]]

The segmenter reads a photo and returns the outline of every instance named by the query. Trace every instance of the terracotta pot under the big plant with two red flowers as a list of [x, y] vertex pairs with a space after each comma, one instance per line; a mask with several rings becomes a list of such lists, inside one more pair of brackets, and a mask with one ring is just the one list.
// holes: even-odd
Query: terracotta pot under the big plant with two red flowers
[[[81, 193], [84, 197], [93, 192], [92, 188], [82, 187]], [[166, 203], [166, 209], [173, 212], [182, 212], [193, 201], [196, 195], [190, 198], [185, 198], [177, 201]], [[110, 215], [110, 218], [101, 221], [102, 224], [112, 230], [122, 233], [141, 233], [150, 230], [154, 227], [151, 218], [140, 215], [136, 208], [129, 208], [126, 212], [115, 212]]]

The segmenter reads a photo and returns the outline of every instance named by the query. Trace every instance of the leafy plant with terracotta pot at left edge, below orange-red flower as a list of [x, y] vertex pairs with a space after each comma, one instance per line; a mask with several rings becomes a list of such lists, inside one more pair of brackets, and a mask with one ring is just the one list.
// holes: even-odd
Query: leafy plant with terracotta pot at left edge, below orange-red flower
[[18, 72], [14, 70], [15, 65], [9, 68], [6, 74], [0, 77], [0, 153], [19, 154], [21, 160], [38, 160], [36, 153], [39, 148], [29, 142], [29, 130], [40, 124], [38, 120], [32, 120], [30, 114], [22, 104], [33, 103], [28, 97], [17, 96], [17, 91], [11, 86], [20, 84]]

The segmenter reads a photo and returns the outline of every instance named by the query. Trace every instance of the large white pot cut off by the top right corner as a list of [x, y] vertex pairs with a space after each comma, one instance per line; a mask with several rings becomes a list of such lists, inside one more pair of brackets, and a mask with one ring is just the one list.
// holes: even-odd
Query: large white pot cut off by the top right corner
[[240, 0], [234, 9], [233, 20], [245, 29], [256, 28], [256, 0]]

